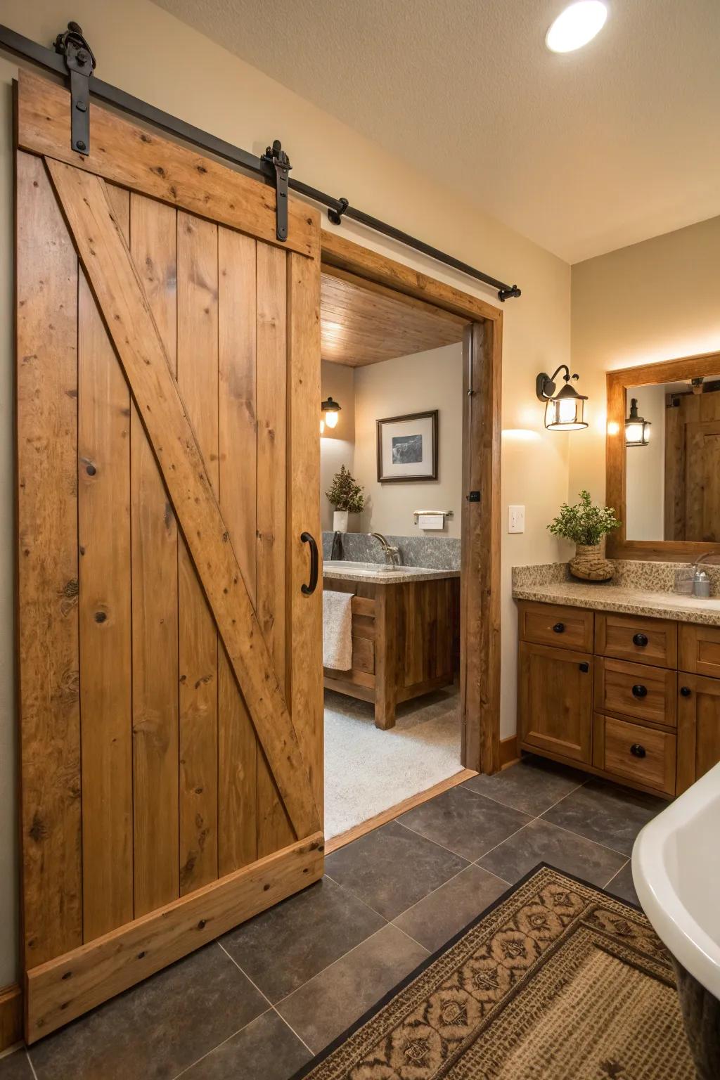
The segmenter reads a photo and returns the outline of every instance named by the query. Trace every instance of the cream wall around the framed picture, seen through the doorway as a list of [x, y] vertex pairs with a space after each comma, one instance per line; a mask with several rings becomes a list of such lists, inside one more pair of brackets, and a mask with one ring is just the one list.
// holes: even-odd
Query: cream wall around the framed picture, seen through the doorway
[[[438, 410], [437, 481], [378, 484], [376, 420]], [[460, 536], [462, 487], [462, 345], [448, 345], [355, 372], [355, 478], [368, 496], [362, 532]], [[423, 532], [413, 510], [452, 510], [443, 532]]]

